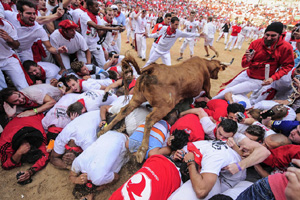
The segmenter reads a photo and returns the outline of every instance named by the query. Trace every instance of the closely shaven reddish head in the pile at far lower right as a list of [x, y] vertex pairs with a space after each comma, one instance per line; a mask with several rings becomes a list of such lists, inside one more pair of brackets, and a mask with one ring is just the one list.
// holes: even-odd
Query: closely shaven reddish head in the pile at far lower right
[[280, 146], [291, 144], [291, 141], [283, 134], [272, 134], [264, 139], [263, 146], [267, 149], [275, 149]]

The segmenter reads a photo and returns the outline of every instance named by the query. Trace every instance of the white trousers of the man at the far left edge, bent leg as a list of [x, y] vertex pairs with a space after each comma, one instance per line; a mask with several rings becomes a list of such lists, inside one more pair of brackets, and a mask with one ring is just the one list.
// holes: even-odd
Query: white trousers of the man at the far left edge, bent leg
[[[9, 76], [18, 90], [28, 87], [28, 83], [18, 59], [14, 57], [8, 57], [6, 59], [0, 60], [0, 69]], [[3, 82], [5, 83], [3, 74], [0, 79], [0, 82], [2, 83], [0, 83], [0, 87], [2, 87], [4, 86]]]

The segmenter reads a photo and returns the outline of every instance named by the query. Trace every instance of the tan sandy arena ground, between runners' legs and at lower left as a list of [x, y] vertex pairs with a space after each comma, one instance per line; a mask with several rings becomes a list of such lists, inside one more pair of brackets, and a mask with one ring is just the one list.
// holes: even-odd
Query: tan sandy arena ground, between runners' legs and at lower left
[[[218, 33], [215, 35], [215, 40], [218, 37]], [[137, 58], [137, 53], [131, 48], [130, 44], [126, 44], [126, 32], [122, 34], [122, 51], [121, 54], [124, 54], [126, 51], [130, 51], [132, 55], [134, 55], [137, 59], [137, 62], [140, 67], [144, 66], [146, 62], [142, 61], [141, 58]], [[153, 39], [147, 39], [147, 55], [149, 55], [149, 51], [152, 45]], [[171, 57], [172, 64], [178, 63], [176, 59], [179, 57], [179, 49], [183, 40], [175, 43], [175, 45], [171, 49]], [[204, 47], [204, 39], [201, 38], [200, 41], [197, 42], [194, 52], [195, 56], [204, 57], [206, 55]], [[249, 46], [249, 41], [244, 42], [241, 50], [232, 50], [232, 51], [224, 51], [224, 39], [221, 39], [219, 42], [214, 42], [215, 48], [218, 50], [220, 57], [217, 58], [223, 62], [229, 62], [232, 58], [235, 58], [233, 64], [226, 69], [226, 71], [222, 71], [219, 73], [218, 80], [211, 79], [211, 95], [214, 96], [220, 89], [220, 85], [223, 82], [234, 77], [238, 72], [242, 70], [241, 67], [241, 59]], [[214, 53], [210, 50], [210, 55], [213, 56]], [[188, 59], [189, 48], [187, 48], [183, 55], [183, 60]], [[148, 57], [147, 57], [148, 60]], [[157, 63], [161, 63], [159, 59]], [[5, 171], [2, 168], [0, 169], [0, 200], [20, 200], [20, 199], [28, 199], [28, 200], [54, 200], [54, 199], [63, 199], [63, 200], [71, 200], [75, 199], [72, 195], [73, 184], [71, 184], [68, 180], [68, 171], [66, 170], [58, 170], [54, 168], [52, 164], [48, 164], [45, 169], [38, 172], [33, 176], [32, 183], [21, 186], [16, 182], [16, 173], [20, 170], [26, 170], [30, 166], [28, 164], [23, 165], [22, 167], [15, 168], [9, 171]], [[133, 174], [130, 164], [125, 165], [120, 172], [120, 180], [100, 192], [96, 195], [96, 200], [105, 200], [110, 197], [110, 195], [119, 188], [122, 184], [124, 184], [129, 177]]]

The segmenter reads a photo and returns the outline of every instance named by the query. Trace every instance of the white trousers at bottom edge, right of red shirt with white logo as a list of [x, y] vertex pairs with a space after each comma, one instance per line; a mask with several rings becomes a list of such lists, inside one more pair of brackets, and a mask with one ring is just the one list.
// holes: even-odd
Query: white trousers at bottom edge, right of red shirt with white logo
[[[217, 179], [215, 185], [203, 200], [210, 199], [215, 194], [219, 194], [221, 192], [223, 192], [221, 189], [221, 183], [220, 180]], [[168, 200], [182, 200], [182, 199], [198, 200], [196, 193], [193, 189], [191, 180], [188, 180], [183, 185], [181, 185], [180, 188], [175, 190], [175, 192], [173, 192], [172, 195], [168, 198]]]

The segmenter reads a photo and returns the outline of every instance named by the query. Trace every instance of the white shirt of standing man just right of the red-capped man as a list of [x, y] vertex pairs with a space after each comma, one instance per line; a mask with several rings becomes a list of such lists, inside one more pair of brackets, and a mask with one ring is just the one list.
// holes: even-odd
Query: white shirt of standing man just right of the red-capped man
[[[98, 25], [103, 25], [101, 23], [101, 19], [99, 16], [96, 16], [97, 19], [97, 24]], [[92, 21], [91, 18], [88, 16], [87, 13], [82, 13], [80, 15], [80, 27], [81, 27], [81, 34], [83, 36], [83, 38], [85, 39], [90, 51], [94, 51], [96, 50], [97, 46], [97, 42], [99, 41], [99, 36], [97, 33], [97, 30], [93, 27], [90, 27], [90, 29], [88, 29], [88, 25], [87, 23], [89, 21]]]

